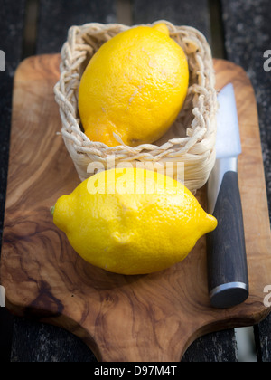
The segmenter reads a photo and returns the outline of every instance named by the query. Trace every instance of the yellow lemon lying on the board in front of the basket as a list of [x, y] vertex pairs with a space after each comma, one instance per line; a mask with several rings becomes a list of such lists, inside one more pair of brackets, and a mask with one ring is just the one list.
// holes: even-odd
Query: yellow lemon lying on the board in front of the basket
[[142, 168], [89, 177], [58, 199], [53, 222], [85, 261], [122, 274], [182, 261], [217, 225], [184, 185]]

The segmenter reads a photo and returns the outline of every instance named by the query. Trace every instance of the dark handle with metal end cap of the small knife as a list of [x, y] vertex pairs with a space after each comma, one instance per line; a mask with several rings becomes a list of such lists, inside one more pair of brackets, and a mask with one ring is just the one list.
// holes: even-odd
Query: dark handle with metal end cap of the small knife
[[248, 298], [248, 265], [237, 172], [224, 174], [213, 215], [218, 226], [207, 234], [210, 305], [227, 309]]

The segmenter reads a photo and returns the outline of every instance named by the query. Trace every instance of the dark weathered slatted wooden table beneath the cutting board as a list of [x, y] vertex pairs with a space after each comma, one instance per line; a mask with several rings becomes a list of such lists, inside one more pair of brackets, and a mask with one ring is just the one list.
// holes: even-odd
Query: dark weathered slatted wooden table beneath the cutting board
[[[35, 9], [38, 9], [38, 13], [31, 14]], [[69, 26], [87, 22], [145, 24], [157, 19], [166, 19], [173, 24], [192, 25], [206, 35], [214, 55], [218, 54], [215, 55], [217, 58], [236, 62], [248, 72], [257, 95], [266, 191], [271, 210], [271, 120], [268, 112], [268, 103], [271, 100], [271, 72], [263, 69], [263, 53], [271, 49], [268, 20], [270, 12], [271, 3], [268, 0], [2, 0], [0, 49], [5, 51], [6, 71], [0, 72], [0, 233], [2, 234], [5, 210], [14, 70], [29, 52], [60, 52]], [[33, 44], [30, 46], [27, 45], [25, 31], [30, 30], [31, 22], [36, 27], [33, 29]], [[0, 309], [0, 326], [0, 334], [4, 330], [9, 333], [6, 334], [5, 340], [2, 335], [0, 339], [0, 355], [6, 360], [96, 361], [95, 356], [78, 337], [61, 328], [33, 320], [12, 318], [4, 308]], [[255, 337], [257, 360], [271, 361], [271, 317], [255, 327]], [[9, 351], [11, 343], [12, 349]], [[182, 362], [200, 361], [238, 361], [234, 330], [220, 331], [197, 339], [188, 348]]]

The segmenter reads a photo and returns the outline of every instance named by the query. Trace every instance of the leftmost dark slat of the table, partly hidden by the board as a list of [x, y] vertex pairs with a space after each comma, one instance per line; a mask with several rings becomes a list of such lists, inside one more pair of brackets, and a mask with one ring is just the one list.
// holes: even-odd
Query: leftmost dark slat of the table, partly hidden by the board
[[[5, 52], [5, 71], [0, 72], [0, 250], [5, 211], [13, 80], [14, 71], [22, 57], [24, 10], [25, 0], [16, 2], [2, 0], [0, 4], [0, 50]], [[10, 357], [13, 319], [7, 309], [0, 308], [0, 358], [2, 361], [8, 361]]]

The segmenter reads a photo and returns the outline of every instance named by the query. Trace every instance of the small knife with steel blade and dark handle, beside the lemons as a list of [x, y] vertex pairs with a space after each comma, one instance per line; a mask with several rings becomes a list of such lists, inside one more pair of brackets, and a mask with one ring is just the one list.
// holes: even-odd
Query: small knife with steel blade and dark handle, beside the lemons
[[207, 234], [210, 305], [228, 309], [248, 298], [248, 264], [238, 187], [241, 143], [233, 85], [218, 95], [216, 162], [207, 187], [208, 212], [218, 220]]

